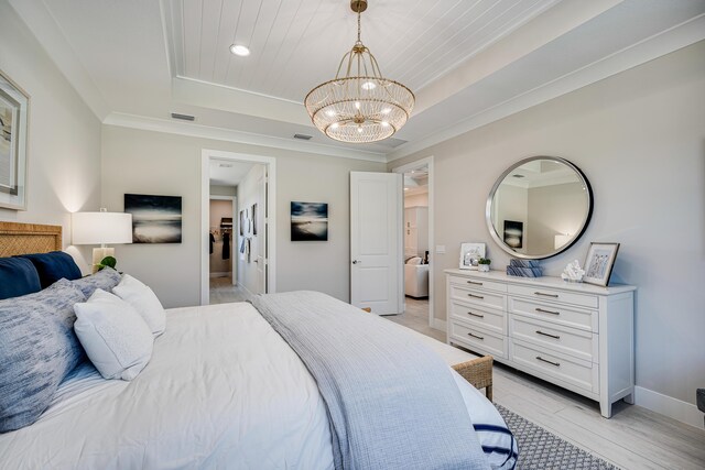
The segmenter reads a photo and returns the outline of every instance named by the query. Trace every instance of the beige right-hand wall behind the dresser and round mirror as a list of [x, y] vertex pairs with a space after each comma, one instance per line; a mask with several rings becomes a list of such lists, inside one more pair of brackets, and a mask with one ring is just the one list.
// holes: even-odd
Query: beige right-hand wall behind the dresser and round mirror
[[[621, 243], [612, 282], [638, 287], [637, 384], [695, 403], [705, 387], [705, 42], [501, 121], [434, 145], [400, 166], [435, 156], [435, 292], [457, 263], [459, 243], [484, 241], [492, 267], [509, 261], [491, 240], [485, 201], [501, 173], [533, 155], [567, 159], [595, 194], [587, 231], [545, 260], [558, 275], [584, 262], [590, 241]], [[464, 179], [471, 167], [475, 184]], [[445, 298], [435, 298], [445, 317]], [[692, 406], [694, 413], [695, 407]], [[699, 416], [702, 424], [702, 416]]]

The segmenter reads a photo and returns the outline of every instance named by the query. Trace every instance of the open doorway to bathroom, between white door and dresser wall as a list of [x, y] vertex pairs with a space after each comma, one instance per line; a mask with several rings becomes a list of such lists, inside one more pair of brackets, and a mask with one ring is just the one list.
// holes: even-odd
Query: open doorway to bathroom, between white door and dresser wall
[[404, 176], [404, 314], [398, 320], [445, 341], [433, 308], [433, 156], [392, 171]]

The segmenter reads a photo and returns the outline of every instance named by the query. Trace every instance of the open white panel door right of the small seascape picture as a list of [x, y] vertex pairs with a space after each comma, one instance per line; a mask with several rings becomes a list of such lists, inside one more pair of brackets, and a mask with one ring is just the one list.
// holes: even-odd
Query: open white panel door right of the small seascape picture
[[402, 176], [350, 172], [350, 300], [379, 315], [402, 309]]

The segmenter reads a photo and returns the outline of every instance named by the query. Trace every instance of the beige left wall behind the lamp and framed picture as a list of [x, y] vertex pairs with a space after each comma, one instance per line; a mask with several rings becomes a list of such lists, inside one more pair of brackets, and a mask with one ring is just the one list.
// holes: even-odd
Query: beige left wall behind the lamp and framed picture
[[[30, 95], [28, 210], [0, 208], [0, 220], [61, 225], [66, 248], [70, 212], [100, 207], [100, 122], [6, 0], [0, 69]], [[90, 271], [90, 247], [67, 251]]]

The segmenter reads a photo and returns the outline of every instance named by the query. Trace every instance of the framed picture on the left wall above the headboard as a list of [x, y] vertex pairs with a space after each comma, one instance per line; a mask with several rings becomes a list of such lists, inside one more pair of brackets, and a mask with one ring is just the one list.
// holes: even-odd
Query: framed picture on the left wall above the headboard
[[30, 96], [0, 70], [0, 207], [26, 210]]

